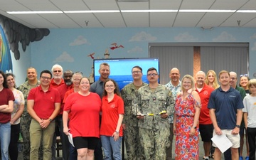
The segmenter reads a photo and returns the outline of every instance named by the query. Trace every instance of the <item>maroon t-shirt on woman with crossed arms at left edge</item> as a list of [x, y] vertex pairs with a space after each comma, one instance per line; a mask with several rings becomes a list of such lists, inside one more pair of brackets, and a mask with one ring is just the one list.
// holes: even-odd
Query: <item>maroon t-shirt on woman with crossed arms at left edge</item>
[[[0, 105], [9, 105], [10, 100], [14, 99], [14, 93], [8, 88], [3, 88], [0, 91]], [[7, 123], [11, 120], [11, 113], [0, 112], [0, 123]]]

